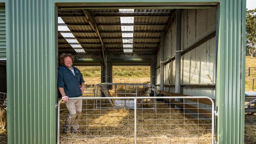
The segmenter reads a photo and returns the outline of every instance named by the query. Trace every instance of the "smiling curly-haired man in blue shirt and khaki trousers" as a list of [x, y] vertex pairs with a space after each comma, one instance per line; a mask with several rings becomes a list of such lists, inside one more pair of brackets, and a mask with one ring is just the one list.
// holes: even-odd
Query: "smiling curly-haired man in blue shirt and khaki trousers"
[[82, 97], [84, 90], [83, 76], [80, 70], [73, 66], [73, 61], [74, 56], [71, 54], [60, 56], [60, 62], [63, 65], [58, 70], [58, 89], [69, 111], [64, 126], [65, 133], [70, 131], [76, 133], [82, 116], [82, 99], [69, 100], [69, 98]]

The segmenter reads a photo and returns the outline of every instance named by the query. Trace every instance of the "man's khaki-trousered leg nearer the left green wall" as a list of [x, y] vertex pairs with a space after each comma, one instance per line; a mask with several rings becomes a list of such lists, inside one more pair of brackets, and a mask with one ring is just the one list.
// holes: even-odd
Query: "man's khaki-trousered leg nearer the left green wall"
[[69, 102], [65, 102], [65, 103], [69, 113], [66, 118], [64, 131], [69, 133], [71, 130], [70, 128], [74, 124], [74, 120], [76, 119], [76, 107], [75, 107], [74, 100], [69, 100]]

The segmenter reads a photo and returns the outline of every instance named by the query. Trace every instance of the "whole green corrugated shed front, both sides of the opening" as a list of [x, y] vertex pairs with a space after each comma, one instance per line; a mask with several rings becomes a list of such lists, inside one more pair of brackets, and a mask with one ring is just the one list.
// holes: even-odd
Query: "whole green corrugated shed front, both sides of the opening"
[[[111, 0], [119, 3], [127, 1]], [[158, 0], [157, 2], [159, 4], [159, 2], [170, 1], [181, 2], [180, 0]], [[57, 42], [57, 34], [54, 32], [56, 30], [54, 2], [85, 1], [7, 1], [9, 144], [54, 144], [56, 142], [57, 53], [55, 42]], [[106, 1], [87, 0], [86, 2]], [[129, 2], [156, 2], [156, 0]], [[217, 138], [219, 144], [243, 144], [245, 0], [183, 0], [182, 2], [188, 2], [187, 4], [189, 2], [220, 2], [216, 83], [219, 112]]]

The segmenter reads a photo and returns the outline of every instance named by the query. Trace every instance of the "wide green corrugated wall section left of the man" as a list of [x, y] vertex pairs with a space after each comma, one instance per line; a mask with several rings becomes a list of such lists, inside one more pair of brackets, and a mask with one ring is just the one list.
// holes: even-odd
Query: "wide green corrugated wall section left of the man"
[[[50, 0], [10, 0], [9, 144], [56, 143], [55, 13]], [[9, 74], [9, 75], [8, 75]]]

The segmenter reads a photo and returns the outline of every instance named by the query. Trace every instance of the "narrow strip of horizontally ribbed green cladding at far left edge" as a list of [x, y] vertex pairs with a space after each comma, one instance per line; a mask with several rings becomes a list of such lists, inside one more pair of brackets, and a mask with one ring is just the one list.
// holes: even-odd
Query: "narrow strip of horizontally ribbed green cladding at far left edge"
[[6, 11], [0, 6], [0, 59], [6, 59]]

